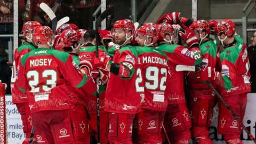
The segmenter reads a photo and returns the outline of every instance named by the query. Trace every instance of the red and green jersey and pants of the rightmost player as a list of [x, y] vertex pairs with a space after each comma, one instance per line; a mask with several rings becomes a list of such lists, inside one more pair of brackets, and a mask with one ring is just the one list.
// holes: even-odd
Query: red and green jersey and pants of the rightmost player
[[[249, 79], [250, 65], [246, 45], [241, 37], [235, 37], [236, 43], [221, 52], [221, 73], [217, 75], [215, 83], [218, 84], [222, 98], [230, 108], [243, 121], [247, 103], [247, 93], [251, 91]], [[219, 101], [218, 131], [226, 142], [239, 139], [241, 126], [230, 114], [228, 109]], [[241, 142], [242, 143], [242, 142]]]

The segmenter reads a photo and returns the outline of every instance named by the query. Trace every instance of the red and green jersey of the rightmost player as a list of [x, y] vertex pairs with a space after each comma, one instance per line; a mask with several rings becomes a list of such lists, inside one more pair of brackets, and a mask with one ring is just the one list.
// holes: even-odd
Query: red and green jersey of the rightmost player
[[218, 75], [216, 83], [220, 87], [222, 96], [251, 92], [249, 81], [250, 63], [243, 39], [235, 37], [236, 44], [220, 53], [221, 74]]

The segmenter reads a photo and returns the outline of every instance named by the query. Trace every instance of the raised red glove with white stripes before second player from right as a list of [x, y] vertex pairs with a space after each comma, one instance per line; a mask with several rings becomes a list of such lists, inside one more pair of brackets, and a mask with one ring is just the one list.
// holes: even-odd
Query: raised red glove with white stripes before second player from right
[[186, 42], [188, 47], [198, 47], [199, 41], [196, 38], [196, 35], [194, 31], [186, 27], [185, 25], [181, 25], [182, 28], [180, 28], [179, 35], [180, 37]]

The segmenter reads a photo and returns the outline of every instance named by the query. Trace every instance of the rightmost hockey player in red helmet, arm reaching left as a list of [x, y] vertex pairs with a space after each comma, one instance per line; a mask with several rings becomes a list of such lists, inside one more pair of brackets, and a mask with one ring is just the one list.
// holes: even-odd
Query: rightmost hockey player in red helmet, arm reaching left
[[[231, 20], [218, 23], [219, 40], [225, 47], [220, 53], [221, 73], [208, 67], [198, 73], [200, 81], [214, 81], [220, 87], [221, 97], [243, 122], [247, 93], [250, 87], [250, 65], [246, 46], [239, 36], [235, 36], [235, 24]], [[213, 83], [213, 82], [212, 82]], [[240, 140], [242, 128], [230, 111], [219, 101], [218, 132], [228, 144], [243, 143]]]

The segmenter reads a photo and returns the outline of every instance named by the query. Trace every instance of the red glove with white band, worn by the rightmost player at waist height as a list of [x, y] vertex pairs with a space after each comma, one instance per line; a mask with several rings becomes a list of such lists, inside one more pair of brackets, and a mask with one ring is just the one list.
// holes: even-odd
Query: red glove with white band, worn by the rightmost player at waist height
[[215, 68], [206, 67], [203, 71], [196, 73], [196, 79], [200, 82], [214, 81], [218, 75], [218, 71]]

